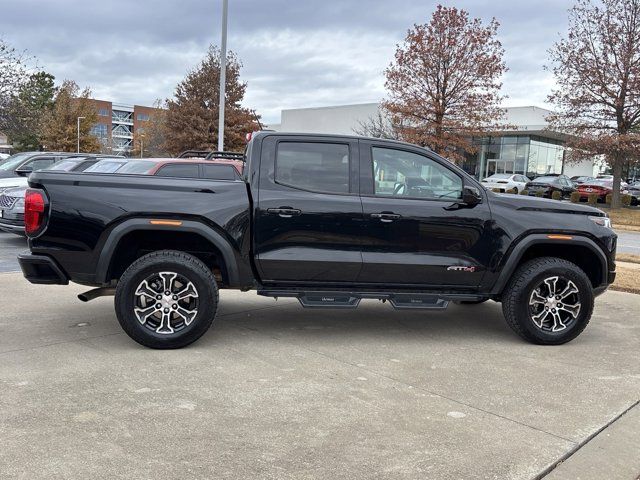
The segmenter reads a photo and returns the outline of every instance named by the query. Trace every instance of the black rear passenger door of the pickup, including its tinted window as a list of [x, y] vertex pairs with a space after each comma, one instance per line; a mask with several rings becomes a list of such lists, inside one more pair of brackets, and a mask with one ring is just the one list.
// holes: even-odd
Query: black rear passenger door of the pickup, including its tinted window
[[337, 284], [362, 266], [358, 142], [297, 135], [262, 142], [254, 251], [263, 283]]

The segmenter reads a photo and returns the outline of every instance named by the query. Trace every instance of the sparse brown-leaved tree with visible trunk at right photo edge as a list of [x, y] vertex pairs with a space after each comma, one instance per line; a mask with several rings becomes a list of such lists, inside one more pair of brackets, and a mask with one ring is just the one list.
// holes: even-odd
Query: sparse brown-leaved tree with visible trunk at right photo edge
[[640, 150], [640, 0], [577, 0], [549, 55], [558, 85], [551, 127], [571, 134], [573, 160], [606, 157], [617, 208], [623, 167]]

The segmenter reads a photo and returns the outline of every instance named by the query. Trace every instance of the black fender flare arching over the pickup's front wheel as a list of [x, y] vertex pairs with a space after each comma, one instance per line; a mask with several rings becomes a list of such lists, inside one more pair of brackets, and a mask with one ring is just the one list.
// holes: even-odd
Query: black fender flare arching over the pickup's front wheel
[[549, 239], [548, 235], [553, 235], [553, 233], [545, 233], [545, 234], [535, 234], [528, 235], [524, 237], [520, 242], [516, 244], [510, 254], [508, 254], [506, 262], [503, 260], [503, 265], [500, 268], [500, 274], [498, 279], [496, 280], [493, 288], [491, 289], [492, 295], [500, 295], [504, 290], [505, 285], [516, 271], [522, 256], [525, 251], [532, 247], [533, 245], [579, 245], [588, 248], [591, 250], [600, 262], [600, 271], [602, 272], [602, 278], [600, 279], [600, 284], [607, 283], [607, 273], [608, 273], [608, 260], [605, 253], [602, 251], [600, 247], [591, 239], [579, 235], [569, 234], [571, 236], [571, 240], [562, 240], [559, 243], [558, 240]]

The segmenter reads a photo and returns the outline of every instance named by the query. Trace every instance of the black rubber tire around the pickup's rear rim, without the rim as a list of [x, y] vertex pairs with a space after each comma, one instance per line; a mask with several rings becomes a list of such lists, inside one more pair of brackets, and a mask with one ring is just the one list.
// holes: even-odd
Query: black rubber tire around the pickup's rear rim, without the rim
[[[142, 324], [134, 312], [138, 286], [145, 279], [161, 272], [175, 272], [190, 281], [198, 294], [197, 313], [191, 323], [170, 334], [153, 331]], [[127, 335], [149, 348], [182, 348], [195, 342], [211, 327], [217, 307], [218, 286], [213, 272], [193, 255], [174, 250], [152, 252], [140, 257], [127, 268], [116, 288], [115, 309], [118, 322]]]

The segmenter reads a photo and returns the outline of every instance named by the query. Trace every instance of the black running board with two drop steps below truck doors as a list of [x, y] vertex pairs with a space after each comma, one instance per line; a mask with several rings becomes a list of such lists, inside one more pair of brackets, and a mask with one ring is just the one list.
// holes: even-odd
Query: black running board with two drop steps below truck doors
[[362, 299], [389, 301], [396, 310], [445, 310], [449, 300], [432, 294], [382, 292], [300, 292], [293, 290], [258, 290], [265, 297], [297, 298], [304, 308], [357, 308]]

